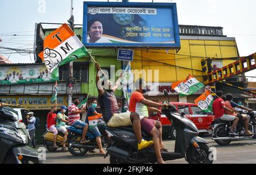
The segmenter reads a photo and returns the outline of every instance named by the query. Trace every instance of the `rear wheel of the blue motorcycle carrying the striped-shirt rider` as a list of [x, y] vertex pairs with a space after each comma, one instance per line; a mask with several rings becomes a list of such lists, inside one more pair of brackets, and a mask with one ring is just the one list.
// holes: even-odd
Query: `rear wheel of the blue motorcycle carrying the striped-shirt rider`
[[70, 146], [70, 144], [72, 144], [72, 143], [80, 144], [80, 140], [81, 140], [81, 136], [78, 136], [78, 135], [73, 135], [68, 140], [68, 151], [73, 156], [83, 156], [88, 152], [88, 150], [86, 148], [73, 148]]

